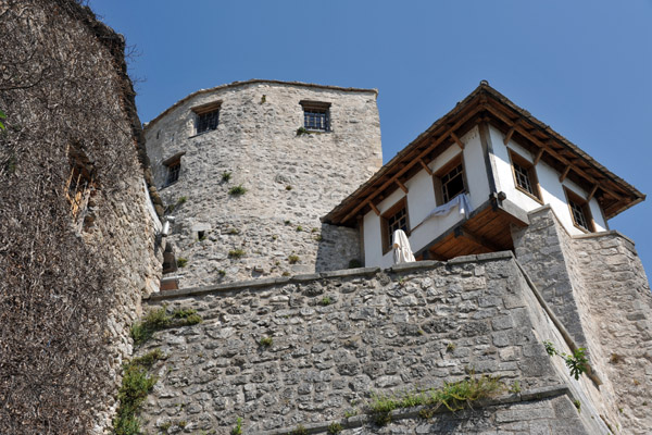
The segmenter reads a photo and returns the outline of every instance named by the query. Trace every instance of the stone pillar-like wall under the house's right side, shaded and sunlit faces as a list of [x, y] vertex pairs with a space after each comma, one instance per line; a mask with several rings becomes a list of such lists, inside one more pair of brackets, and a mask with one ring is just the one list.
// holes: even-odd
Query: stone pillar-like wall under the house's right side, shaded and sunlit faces
[[634, 244], [617, 232], [570, 236], [548, 207], [515, 234], [516, 257], [602, 380], [601, 414], [652, 427], [652, 297]]

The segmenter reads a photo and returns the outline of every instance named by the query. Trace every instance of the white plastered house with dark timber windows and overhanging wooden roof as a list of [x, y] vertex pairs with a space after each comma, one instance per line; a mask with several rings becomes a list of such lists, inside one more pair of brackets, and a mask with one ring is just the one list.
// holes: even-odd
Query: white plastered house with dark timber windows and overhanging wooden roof
[[360, 228], [364, 264], [392, 265], [403, 229], [417, 260], [514, 248], [549, 204], [570, 235], [604, 232], [644, 195], [482, 82], [323, 217]]

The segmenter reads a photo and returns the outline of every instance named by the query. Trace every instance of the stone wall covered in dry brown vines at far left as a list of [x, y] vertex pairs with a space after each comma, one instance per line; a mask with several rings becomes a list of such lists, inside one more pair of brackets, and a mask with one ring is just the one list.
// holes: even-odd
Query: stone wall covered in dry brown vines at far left
[[[3, 434], [106, 430], [129, 325], [158, 287], [124, 47], [77, 1], [0, 2]], [[96, 170], [85, 229], [65, 197], [71, 146]]]

